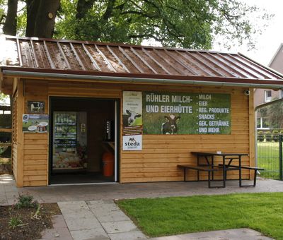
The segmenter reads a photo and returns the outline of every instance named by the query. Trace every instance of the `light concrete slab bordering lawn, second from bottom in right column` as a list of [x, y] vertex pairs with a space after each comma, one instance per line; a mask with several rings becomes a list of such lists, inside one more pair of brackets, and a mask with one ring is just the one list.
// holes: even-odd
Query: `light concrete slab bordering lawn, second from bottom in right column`
[[139, 231], [132, 221], [119, 222], [101, 222], [101, 225], [108, 234], [115, 234], [117, 232], [131, 232]]

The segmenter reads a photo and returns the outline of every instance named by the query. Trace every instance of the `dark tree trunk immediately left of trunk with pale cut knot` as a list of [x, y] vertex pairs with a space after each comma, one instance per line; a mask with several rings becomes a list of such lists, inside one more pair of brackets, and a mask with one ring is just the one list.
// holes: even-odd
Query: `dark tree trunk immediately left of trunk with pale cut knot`
[[35, 19], [40, 6], [40, 0], [26, 0], [27, 5], [27, 26], [25, 37], [33, 37], [35, 32]]

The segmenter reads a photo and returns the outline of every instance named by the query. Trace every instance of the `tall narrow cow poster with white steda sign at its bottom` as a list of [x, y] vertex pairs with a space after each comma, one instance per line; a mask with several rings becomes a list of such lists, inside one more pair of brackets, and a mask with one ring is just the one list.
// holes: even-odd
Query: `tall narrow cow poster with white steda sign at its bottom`
[[123, 150], [142, 149], [142, 92], [123, 92]]

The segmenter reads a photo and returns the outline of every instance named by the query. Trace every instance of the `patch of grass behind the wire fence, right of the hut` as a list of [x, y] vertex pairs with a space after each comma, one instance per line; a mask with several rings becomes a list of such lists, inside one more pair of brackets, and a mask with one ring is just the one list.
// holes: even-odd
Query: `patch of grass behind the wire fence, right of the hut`
[[267, 179], [279, 179], [279, 143], [258, 142], [258, 167], [265, 171], [260, 171], [260, 176]]

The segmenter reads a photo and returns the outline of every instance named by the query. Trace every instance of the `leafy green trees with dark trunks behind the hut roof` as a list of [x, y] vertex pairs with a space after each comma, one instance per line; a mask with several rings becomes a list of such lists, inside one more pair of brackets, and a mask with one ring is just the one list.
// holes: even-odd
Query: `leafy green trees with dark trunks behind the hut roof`
[[[209, 49], [217, 35], [224, 35], [228, 44], [234, 39], [239, 44], [244, 40], [253, 43], [254, 33], [260, 31], [249, 18], [258, 8], [240, 0], [18, 0], [18, 3], [21, 6], [18, 33], [35, 37], [133, 44], [156, 40], [163, 46]], [[0, 0], [0, 4], [7, 6], [8, 1]], [[0, 11], [2, 22], [8, 18], [6, 12]], [[49, 12], [57, 16], [56, 21], [47, 18]], [[258, 17], [268, 20], [270, 15]], [[48, 21], [50, 24], [46, 24]]]

